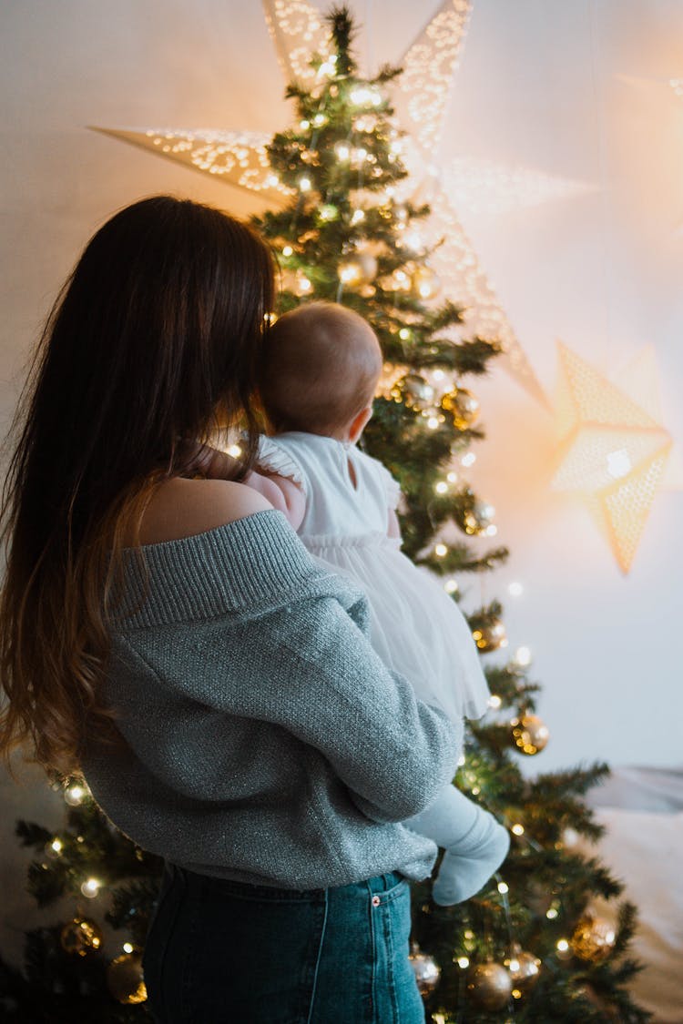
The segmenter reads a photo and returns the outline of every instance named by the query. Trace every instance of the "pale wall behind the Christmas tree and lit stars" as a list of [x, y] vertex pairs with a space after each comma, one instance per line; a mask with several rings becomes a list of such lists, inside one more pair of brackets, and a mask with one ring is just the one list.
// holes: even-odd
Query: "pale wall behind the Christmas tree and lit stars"
[[[361, 67], [396, 60], [436, 0], [356, 0]], [[244, 193], [89, 132], [112, 127], [286, 125], [283, 80], [260, 4], [237, 0], [10, 0], [0, 15], [3, 168], [0, 417], [11, 412], [42, 317], [85, 241], [114, 210], [173, 191], [255, 209]], [[652, 342], [665, 424], [683, 437], [683, 76], [679, 0], [475, 0], [439, 159], [523, 165], [592, 191], [490, 216], [461, 215], [521, 344], [552, 391], [555, 339], [605, 371]], [[367, 45], [366, 45], [367, 44]], [[678, 648], [682, 496], [660, 494], [624, 578], [584, 508], [548, 487], [551, 420], [502, 371], [473, 384], [488, 440], [472, 470], [497, 507], [509, 566], [511, 647], [535, 652], [552, 731], [528, 768], [606, 758], [681, 762]], [[478, 599], [478, 583], [471, 599]], [[476, 588], [476, 589], [474, 589]], [[46, 813], [42, 781], [0, 785], [0, 886], [24, 858], [13, 819]], [[52, 810], [50, 813], [55, 813]], [[16, 945], [24, 905], [0, 914]]]

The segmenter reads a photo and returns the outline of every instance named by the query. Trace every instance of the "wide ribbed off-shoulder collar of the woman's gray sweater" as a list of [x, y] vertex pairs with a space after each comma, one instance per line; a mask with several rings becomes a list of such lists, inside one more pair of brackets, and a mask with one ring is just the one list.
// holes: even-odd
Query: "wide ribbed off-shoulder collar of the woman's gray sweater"
[[113, 628], [265, 610], [287, 603], [315, 578], [329, 584], [282, 512], [256, 512], [205, 534], [127, 549]]

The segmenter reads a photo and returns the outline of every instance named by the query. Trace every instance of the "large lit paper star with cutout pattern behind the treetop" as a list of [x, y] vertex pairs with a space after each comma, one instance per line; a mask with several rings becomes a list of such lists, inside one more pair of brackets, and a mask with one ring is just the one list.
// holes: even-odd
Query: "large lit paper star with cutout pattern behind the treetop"
[[[314, 84], [316, 72], [309, 60], [313, 53], [329, 52], [329, 32], [325, 18], [306, 0], [263, 0], [266, 23], [286, 80]], [[472, 0], [443, 0], [398, 66], [403, 74], [391, 88], [397, 128], [404, 133], [404, 163], [410, 178], [402, 183], [402, 200], [429, 203], [432, 214], [421, 224], [421, 238], [428, 248], [437, 246], [430, 264], [442, 284], [442, 296], [464, 307], [468, 335], [497, 340], [503, 349], [502, 361], [509, 373], [539, 401], [548, 404], [546, 394], [525, 356], [478, 256], [456, 213], [455, 198], [462, 199], [463, 183], [476, 179], [471, 167], [455, 162], [439, 168], [433, 163], [441, 138], [447, 101], [454, 87]], [[266, 146], [270, 136], [259, 132], [213, 128], [142, 130], [96, 127], [96, 131], [160, 156], [185, 164], [252, 193], [270, 205], [284, 205], [291, 196], [268, 165]], [[488, 170], [499, 195], [510, 174]], [[585, 190], [580, 182], [567, 182], [525, 173], [517, 169], [512, 180], [519, 197], [529, 189], [545, 201]], [[590, 186], [588, 186], [590, 187]], [[508, 188], [508, 203], [510, 202]], [[465, 200], [466, 201], [466, 200]], [[499, 198], [499, 206], [501, 200]], [[437, 243], [440, 243], [437, 245]]]

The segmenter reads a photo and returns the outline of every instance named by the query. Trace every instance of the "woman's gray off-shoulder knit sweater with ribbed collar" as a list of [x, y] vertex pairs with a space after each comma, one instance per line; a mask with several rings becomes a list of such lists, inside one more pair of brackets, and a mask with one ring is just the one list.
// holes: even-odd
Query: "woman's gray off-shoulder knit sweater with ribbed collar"
[[451, 779], [461, 737], [374, 653], [362, 594], [275, 511], [141, 552], [113, 628], [117, 738], [83, 764], [112, 821], [241, 882], [425, 878], [436, 848], [399, 822]]

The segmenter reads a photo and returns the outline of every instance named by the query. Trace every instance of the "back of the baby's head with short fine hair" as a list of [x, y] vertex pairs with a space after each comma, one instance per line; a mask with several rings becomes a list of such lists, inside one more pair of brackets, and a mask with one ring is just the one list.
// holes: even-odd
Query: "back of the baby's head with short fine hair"
[[362, 316], [334, 302], [310, 302], [285, 313], [266, 335], [263, 409], [276, 432], [356, 440], [381, 370], [379, 342]]

